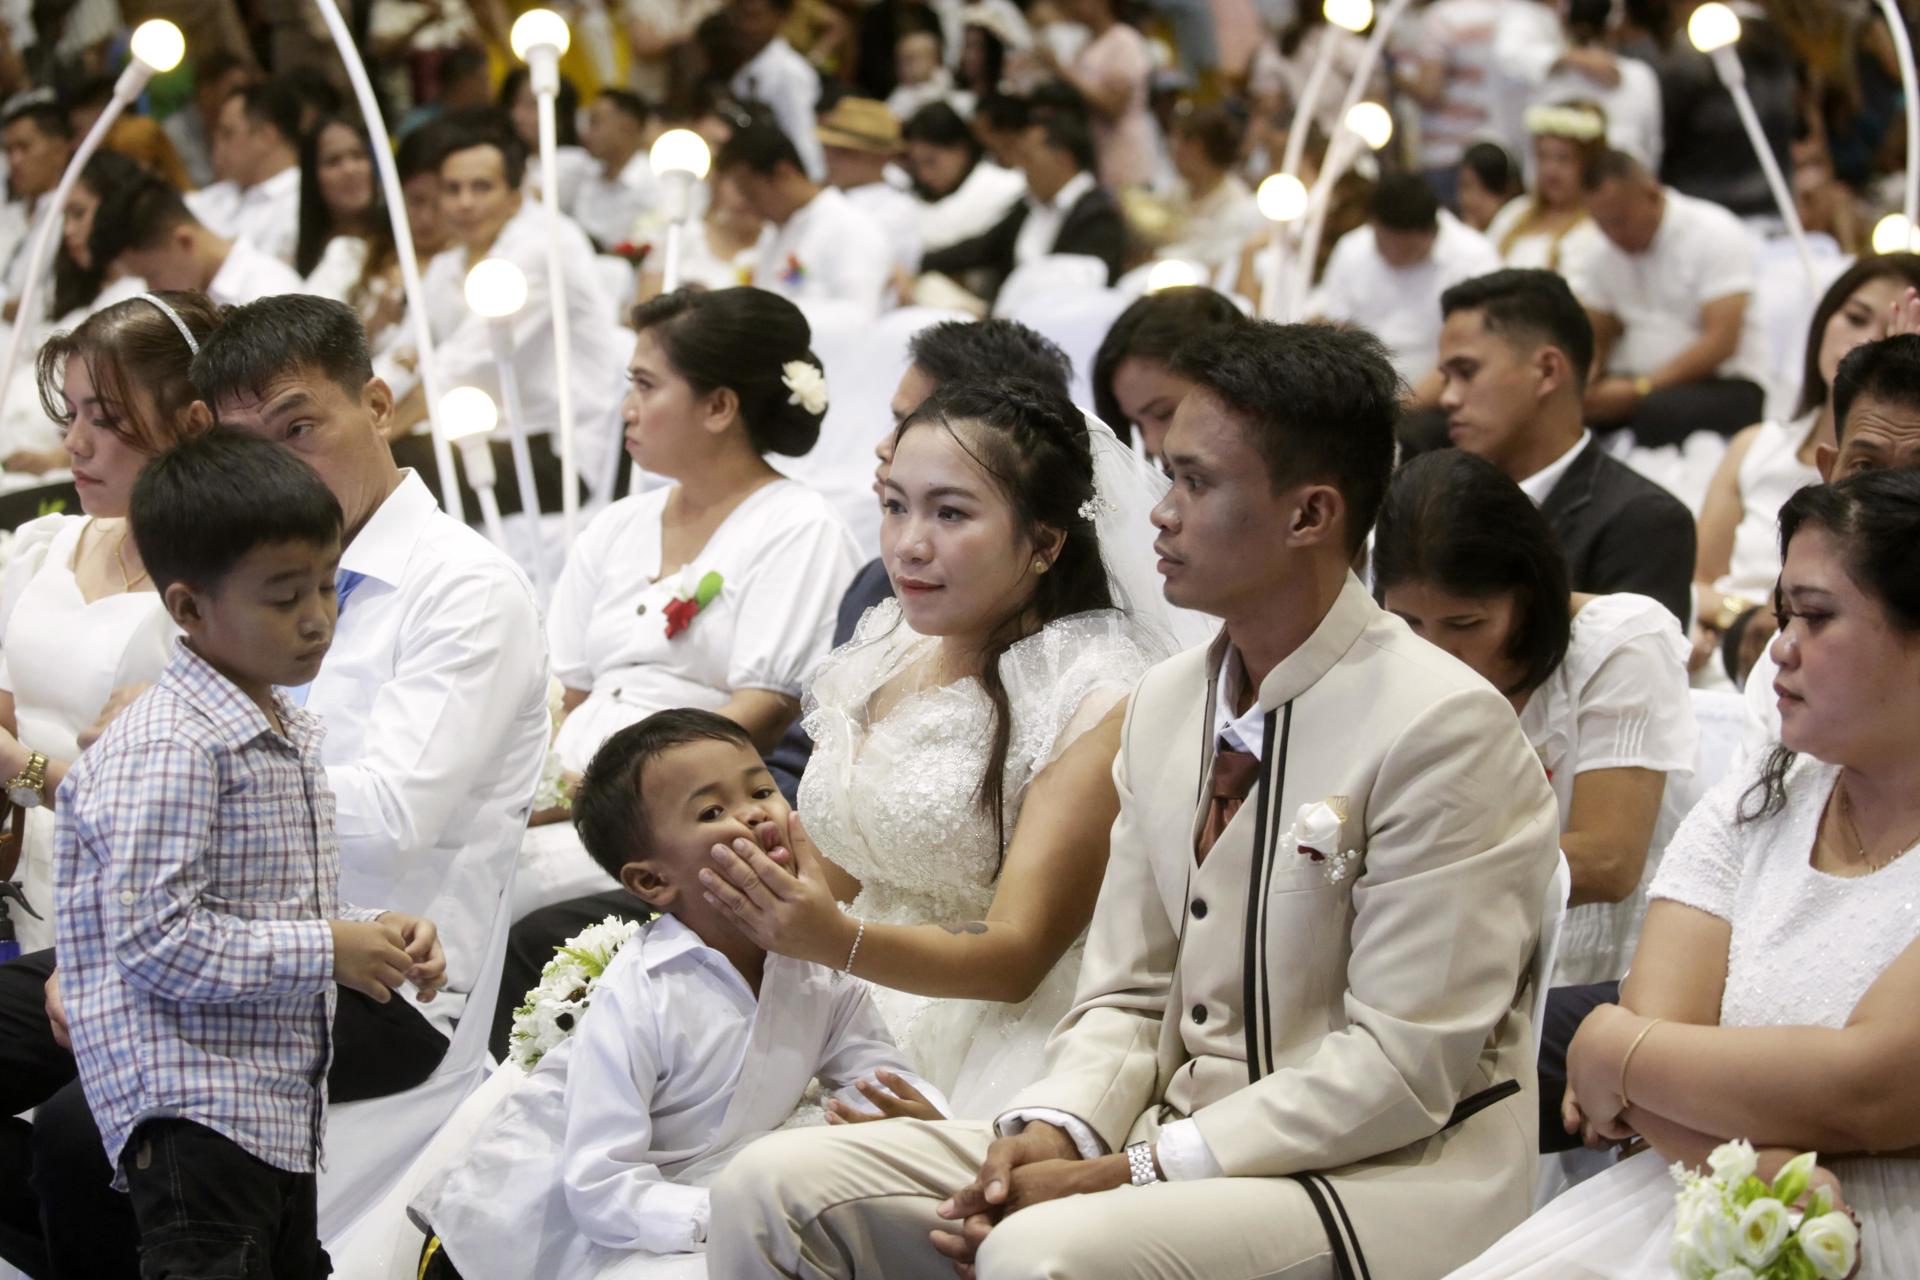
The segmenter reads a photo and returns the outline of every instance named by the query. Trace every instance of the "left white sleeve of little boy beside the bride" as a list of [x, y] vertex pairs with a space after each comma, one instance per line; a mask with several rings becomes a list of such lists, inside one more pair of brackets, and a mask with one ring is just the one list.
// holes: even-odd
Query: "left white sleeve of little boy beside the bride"
[[[632, 1002], [626, 1002], [632, 1004]], [[653, 1082], [660, 1075], [655, 1009], [624, 1007], [620, 988], [593, 992], [566, 1063], [561, 1184], [580, 1232], [609, 1249], [689, 1253], [707, 1240], [707, 1188], [668, 1182], [645, 1159]]]

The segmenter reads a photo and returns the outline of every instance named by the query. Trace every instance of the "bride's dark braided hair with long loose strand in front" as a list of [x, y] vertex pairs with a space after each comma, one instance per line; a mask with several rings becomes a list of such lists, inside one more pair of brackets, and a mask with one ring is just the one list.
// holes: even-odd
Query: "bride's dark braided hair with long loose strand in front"
[[993, 814], [1006, 850], [1006, 750], [1014, 723], [1000, 679], [1000, 654], [1050, 622], [1114, 608], [1092, 516], [1092, 443], [1087, 418], [1060, 390], [1025, 378], [943, 384], [893, 434], [939, 426], [987, 472], [1014, 509], [1014, 526], [1035, 543], [1066, 533], [1060, 555], [1033, 583], [1025, 608], [1002, 618], [981, 654], [981, 685], [993, 702], [993, 748], [979, 779], [979, 802]]

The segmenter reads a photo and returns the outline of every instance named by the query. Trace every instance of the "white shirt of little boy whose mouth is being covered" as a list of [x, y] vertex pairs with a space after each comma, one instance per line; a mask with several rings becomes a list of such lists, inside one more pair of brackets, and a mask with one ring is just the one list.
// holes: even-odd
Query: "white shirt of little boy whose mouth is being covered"
[[872, 1111], [852, 1084], [877, 1071], [947, 1109], [864, 981], [768, 956], [755, 998], [726, 956], [660, 915], [607, 965], [578, 1031], [409, 1209], [468, 1280], [584, 1280], [634, 1251], [687, 1253], [707, 1242], [707, 1184], [814, 1077]]

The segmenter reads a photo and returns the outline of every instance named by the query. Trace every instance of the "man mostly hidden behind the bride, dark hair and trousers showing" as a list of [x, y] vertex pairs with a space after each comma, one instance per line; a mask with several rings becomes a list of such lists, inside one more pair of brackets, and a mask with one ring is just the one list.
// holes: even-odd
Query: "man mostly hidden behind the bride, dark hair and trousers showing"
[[[1018, 320], [945, 320], [931, 324], [906, 344], [908, 365], [900, 376], [900, 386], [893, 391], [893, 424], [874, 445], [879, 466], [874, 468], [874, 501], [879, 501], [879, 484], [893, 462], [893, 432], [914, 409], [933, 395], [947, 382], [993, 380], [993, 378], [1031, 378], [1046, 386], [1060, 388], [1068, 395], [1073, 380], [1073, 361], [1058, 345], [1033, 332]], [[881, 560], [868, 560], [841, 597], [839, 616], [833, 622], [833, 647], [852, 639], [854, 628], [868, 608], [893, 599], [893, 580]], [[806, 758], [814, 745], [799, 723], [791, 725], [780, 745], [768, 752], [766, 768], [789, 802], [797, 802], [801, 773], [806, 771]], [[588, 925], [599, 923], [607, 915], [624, 919], [645, 919], [647, 912], [634, 894], [624, 889], [588, 894], [555, 902], [553, 906], [528, 912], [515, 921], [507, 935], [507, 958], [501, 971], [499, 1004], [493, 1011], [493, 1031], [490, 1048], [493, 1057], [505, 1061], [509, 1032], [513, 1031], [513, 1009], [520, 1004], [540, 969], [553, 960], [553, 948], [580, 933]]]

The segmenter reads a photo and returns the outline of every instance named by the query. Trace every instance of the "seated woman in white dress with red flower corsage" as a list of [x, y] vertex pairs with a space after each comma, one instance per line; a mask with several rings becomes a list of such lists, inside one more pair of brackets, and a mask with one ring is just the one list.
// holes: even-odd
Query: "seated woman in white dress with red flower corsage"
[[[799, 309], [753, 288], [678, 290], [632, 326], [626, 453], [674, 484], [595, 516], [553, 589], [553, 748], [574, 775], [614, 729], [670, 706], [720, 712], [772, 748], [860, 566], [833, 507], [766, 459], [812, 449], [826, 413]], [[605, 887], [564, 819], [543, 812], [528, 833], [516, 917]]]

